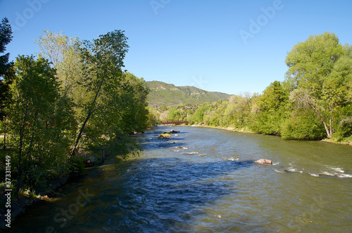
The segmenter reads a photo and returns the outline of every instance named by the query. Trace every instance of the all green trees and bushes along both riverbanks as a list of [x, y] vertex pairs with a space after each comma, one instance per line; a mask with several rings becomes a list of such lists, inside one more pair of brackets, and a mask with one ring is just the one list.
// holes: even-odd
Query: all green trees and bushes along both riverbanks
[[[4, 18], [0, 53], [11, 39]], [[157, 109], [147, 105], [146, 82], [122, 70], [129, 48], [123, 31], [92, 42], [44, 32], [36, 43], [37, 57], [0, 58], [1, 182], [11, 158], [16, 182], [8, 188], [16, 194], [81, 173], [84, 163], [98, 164], [108, 155], [126, 158], [138, 148], [128, 135], [160, 119], [285, 139], [352, 141], [352, 47], [339, 44], [334, 33], [296, 44], [287, 54], [285, 80], [261, 94]]]

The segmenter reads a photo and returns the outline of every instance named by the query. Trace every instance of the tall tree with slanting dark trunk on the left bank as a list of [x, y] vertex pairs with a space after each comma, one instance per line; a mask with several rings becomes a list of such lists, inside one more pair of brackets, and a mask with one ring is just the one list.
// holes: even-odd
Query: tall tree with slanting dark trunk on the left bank
[[128, 51], [127, 37], [121, 30], [99, 36], [94, 42], [84, 42], [84, 62], [87, 64], [87, 89], [90, 96], [84, 106], [80, 129], [77, 132], [71, 156], [75, 155], [89, 120], [101, 108], [106, 108], [104, 92], [119, 84], [122, 75], [123, 59]]

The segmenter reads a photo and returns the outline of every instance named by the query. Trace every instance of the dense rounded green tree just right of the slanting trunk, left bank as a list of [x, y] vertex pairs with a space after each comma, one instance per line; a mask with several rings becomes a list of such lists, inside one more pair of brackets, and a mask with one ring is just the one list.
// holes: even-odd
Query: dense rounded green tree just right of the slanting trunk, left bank
[[94, 134], [99, 132], [99, 136], [114, 139], [124, 134], [142, 132], [148, 127], [146, 96], [149, 90], [144, 80], [131, 73], [123, 73], [115, 78], [115, 82], [103, 88], [101, 96], [104, 102], [100, 103], [103, 105], [96, 109], [87, 127], [92, 132], [89, 133], [90, 137], [96, 137]]

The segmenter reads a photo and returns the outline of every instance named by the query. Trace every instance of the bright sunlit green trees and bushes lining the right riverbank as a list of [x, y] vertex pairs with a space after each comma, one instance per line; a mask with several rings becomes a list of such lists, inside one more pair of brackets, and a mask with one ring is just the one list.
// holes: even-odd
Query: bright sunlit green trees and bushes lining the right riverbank
[[325, 32], [296, 44], [285, 62], [284, 81], [272, 82], [262, 94], [230, 96], [196, 108], [180, 104], [158, 114], [285, 139], [352, 142], [352, 46]]

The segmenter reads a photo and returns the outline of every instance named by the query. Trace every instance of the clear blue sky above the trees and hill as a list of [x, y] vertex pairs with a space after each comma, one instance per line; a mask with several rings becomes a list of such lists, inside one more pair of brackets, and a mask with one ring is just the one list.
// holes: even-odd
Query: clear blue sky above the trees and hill
[[228, 94], [284, 80], [287, 52], [310, 34], [352, 44], [351, 10], [350, 0], [0, 0], [11, 60], [38, 52], [43, 30], [88, 40], [125, 30], [137, 77]]

